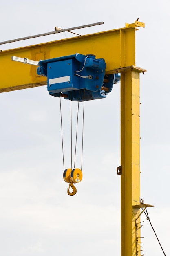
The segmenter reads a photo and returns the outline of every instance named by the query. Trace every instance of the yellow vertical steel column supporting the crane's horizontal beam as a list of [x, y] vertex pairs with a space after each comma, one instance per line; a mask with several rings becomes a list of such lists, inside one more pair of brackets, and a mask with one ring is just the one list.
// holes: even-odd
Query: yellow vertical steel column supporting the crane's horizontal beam
[[121, 256], [141, 255], [140, 209], [132, 207], [140, 204], [140, 72], [134, 66], [121, 72]]

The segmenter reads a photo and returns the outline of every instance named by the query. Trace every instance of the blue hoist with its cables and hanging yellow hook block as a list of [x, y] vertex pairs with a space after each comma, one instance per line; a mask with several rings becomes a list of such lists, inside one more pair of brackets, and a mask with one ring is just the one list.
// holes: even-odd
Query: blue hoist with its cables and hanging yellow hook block
[[[120, 81], [120, 73], [105, 74], [106, 63], [104, 58], [96, 59], [93, 54], [82, 55], [76, 53], [59, 58], [40, 60], [39, 62], [15, 56], [12, 57], [12, 60], [37, 65], [37, 74], [47, 77], [49, 94], [60, 97], [60, 99], [64, 97], [78, 102], [103, 99], [111, 92], [113, 84]], [[69, 183], [68, 195], [75, 195], [77, 190], [73, 183], [82, 180], [82, 170], [76, 168], [65, 169], [63, 178], [65, 182]], [[70, 187], [73, 192], [69, 191]]]

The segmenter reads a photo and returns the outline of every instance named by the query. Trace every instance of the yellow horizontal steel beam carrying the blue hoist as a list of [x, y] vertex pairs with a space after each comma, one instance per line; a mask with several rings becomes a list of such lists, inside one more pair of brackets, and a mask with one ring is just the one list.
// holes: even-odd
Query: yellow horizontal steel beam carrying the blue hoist
[[49, 58], [80, 54], [95, 54], [106, 61], [106, 74], [115, 69], [135, 66], [135, 30], [144, 23], [126, 23], [126, 27], [78, 36], [49, 43], [31, 45], [0, 52], [0, 92], [46, 85], [46, 78], [38, 76], [36, 66], [11, 61], [11, 56], [40, 61]]

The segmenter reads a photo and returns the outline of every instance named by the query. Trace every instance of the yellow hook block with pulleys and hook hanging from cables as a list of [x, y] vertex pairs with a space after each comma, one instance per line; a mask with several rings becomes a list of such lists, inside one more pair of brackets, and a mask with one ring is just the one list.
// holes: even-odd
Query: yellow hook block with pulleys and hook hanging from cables
[[[81, 182], [83, 178], [82, 171], [80, 169], [66, 169], [63, 173], [63, 179], [65, 182], [69, 183], [69, 187], [67, 189], [68, 195], [75, 195], [77, 193], [76, 187], [73, 185], [73, 183], [79, 183]], [[70, 187], [73, 189], [72, 192], [69, 191]]]

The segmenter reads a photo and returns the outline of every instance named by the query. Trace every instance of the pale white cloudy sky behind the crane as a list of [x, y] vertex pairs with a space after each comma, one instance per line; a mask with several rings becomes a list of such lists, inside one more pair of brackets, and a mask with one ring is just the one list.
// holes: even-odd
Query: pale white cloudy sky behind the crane
[[[170, 254], [170, 2], [132, 0], [7, 0], [0, 5], [0, 41], [104, 21], [80, 34], [121, 28], [138, 17], [136, 63], [141, 75], [141, 197], [155, 207], [150, 220]], [[71, 36], [0, 45], [12, 49]], [[18, 74], [22, 76], [20, 70]], [[0, 76], [3, 76], [0, 72]], [[9, 77], [7, 79], [12, 79]], [[67, 195], [62, 178], [59, 99], [46, 86], [0, 94], [0, 254], [3, 256], [120, 255], [120, 85], [85, 103], [83, 180]], [[63, 100], [64, 138], [69, 102]], [[68, 149], [66, 148], [66, 152]], [[71, 168], [66, 154], [66, 166]], [[142, 216], [145, 256], [163, 255]]]

